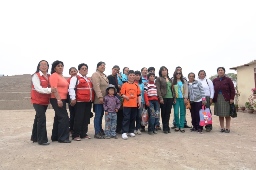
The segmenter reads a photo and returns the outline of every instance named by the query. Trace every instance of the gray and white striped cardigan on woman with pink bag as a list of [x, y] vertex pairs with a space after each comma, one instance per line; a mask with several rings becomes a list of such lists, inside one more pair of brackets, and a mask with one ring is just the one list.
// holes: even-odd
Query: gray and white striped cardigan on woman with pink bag
[[[204, 87], [202, 83], [200, 83], [197, 80], [194, 80], [194, 82], [190, 85], [189, 82], [188, 84], [188, 99], [189, 101], [197, 101], [200, 100], [201, 98], [205, 98], [205, 92], [204, 92]], [[202, 103], [206, 103], [206, 101], [202, 101]]]

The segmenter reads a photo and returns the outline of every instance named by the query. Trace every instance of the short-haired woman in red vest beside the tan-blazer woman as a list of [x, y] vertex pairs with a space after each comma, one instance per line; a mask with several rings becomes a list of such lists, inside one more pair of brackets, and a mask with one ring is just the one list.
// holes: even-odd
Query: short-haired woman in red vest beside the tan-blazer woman
[[[70, 105], [75, 106], [76, 119], [73, 128], [73, 140], [79, 141], [82, 139], [90, 139], [91, 136], [87, 135], [88, 124], [90, 123], [90, 115], [92, 109], [92, 103], [94, 101], [93, 84], [91, 79], [86, 75], [88, 73], [87, 64], [78, 65], [78, 81], [77, 76], [74, 76], [70, 80], [69, 95], [71, 100]], [[75, 91], [74, 88], [76, 87]]]

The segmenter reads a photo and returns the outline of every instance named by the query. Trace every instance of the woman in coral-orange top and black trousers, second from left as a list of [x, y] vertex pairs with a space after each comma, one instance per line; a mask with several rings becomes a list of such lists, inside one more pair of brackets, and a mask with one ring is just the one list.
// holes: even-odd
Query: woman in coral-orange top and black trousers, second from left
[[50, 86], [57, 87], [58, 91], [51, 93], [51, 105], [55, 111], [52, 127], [52, 141], [70, 143], [69, 140], [69, 117], [66, 109], [69, 83], [62, 75], [63, 62], [57, 60], [52, 63]]

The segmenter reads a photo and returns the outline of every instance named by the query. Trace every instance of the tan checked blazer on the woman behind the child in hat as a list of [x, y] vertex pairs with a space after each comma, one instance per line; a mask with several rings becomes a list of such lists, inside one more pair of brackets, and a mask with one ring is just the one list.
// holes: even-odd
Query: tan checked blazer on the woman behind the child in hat
[[99, 103], [99, 98], [100, 97], [105, 97], [106, 94], [106, 89], [108, 88], [109, 85], [109, 80], [107, 76], [104, 73], [101, 73], [100, 71], [96, 71], [92, 75], [92, 83], [93, 83], [93, 90], [94, 94], [96, 95], [94, 98], [94, 104], [100, 104]]

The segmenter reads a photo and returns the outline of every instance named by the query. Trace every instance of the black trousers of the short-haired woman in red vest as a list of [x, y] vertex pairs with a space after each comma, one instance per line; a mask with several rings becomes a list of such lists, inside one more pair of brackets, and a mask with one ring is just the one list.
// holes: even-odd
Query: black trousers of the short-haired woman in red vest
[[74, 123], [73, 136], [85, 137], [88, 132], [88, 124], [90, 123], [92, 102], [77, 102], [75, 105], [76, 119]]

